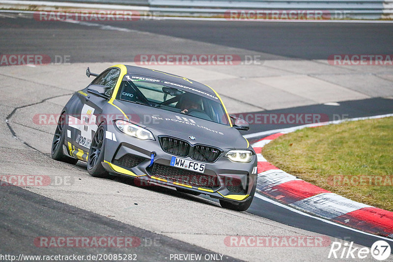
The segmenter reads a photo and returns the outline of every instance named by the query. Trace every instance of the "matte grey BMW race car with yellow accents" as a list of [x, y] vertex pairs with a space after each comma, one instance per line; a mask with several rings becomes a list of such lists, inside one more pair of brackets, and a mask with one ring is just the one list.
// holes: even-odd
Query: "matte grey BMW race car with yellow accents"
[[207, 194], [244, 211], [253, 200], [257, 157], [211, 87], [184, 77], [114, 65], [61, 111], [52, 158], [87, 162], [93, 177], [123, 175]]

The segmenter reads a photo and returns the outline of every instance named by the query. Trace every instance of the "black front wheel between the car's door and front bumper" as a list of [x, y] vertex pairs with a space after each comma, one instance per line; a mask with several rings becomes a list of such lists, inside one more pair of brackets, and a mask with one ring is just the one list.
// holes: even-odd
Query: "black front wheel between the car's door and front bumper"
[[96, 178], [108, 178], [110, 175], [102, 166], [104, 162], [105, 150], [105, 124], [101, 124], [94, 134], [91, 141], [89, 155], [87, 157], [87, 172], [90, 176]]

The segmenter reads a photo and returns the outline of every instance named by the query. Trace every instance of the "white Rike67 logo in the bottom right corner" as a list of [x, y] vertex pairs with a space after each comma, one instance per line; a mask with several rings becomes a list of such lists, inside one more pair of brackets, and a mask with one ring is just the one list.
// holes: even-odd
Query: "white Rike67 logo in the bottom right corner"
[[329, 251], [328, 259], [365, 259], [371, 256], [379, 261], [386, 260], [389, 258], [391, 253], [391, 247], [388, 242], [384, 240], [378, 240], [369, 247], [353, 247], [353, 242], [332, 242], [332, 247]]

